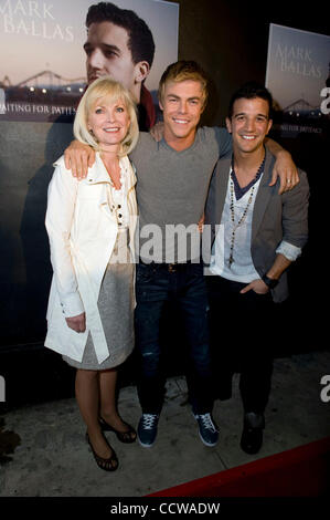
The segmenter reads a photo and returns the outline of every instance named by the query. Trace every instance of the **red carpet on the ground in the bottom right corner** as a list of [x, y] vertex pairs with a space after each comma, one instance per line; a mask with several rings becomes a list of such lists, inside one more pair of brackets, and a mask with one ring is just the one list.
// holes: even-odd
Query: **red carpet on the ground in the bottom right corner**
[[148, 497], [324, 497], [330, 493], [330, 437]]

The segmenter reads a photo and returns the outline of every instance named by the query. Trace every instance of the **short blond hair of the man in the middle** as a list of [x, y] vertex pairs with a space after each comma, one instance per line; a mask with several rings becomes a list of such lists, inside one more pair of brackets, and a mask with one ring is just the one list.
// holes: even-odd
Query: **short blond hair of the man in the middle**
[[181, 60], [172, 63], [163, 72], [158, 87], [158, 98], [163, 102], [163, 93], [166, 83], [173, 81], [179, 83], [181, 81], [199, 81], [202, 86], [202, 103], [203, 108], [207, 101], [207, 77], [203, 69], [195, 61]]

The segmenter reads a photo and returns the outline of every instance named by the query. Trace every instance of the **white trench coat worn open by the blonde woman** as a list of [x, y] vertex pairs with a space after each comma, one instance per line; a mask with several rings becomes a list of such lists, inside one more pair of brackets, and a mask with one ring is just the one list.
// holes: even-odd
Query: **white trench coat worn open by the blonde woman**
[[[131, 261], [137, 225], [136, 175], [128, 157], [120, 159], [127, 183]], [[99, 154], [78, 181], [67, 170], [62, 156], [55, 164], [49, 186], [45, 226], [50, 237], [53, 280], [47, 308], [45, 346], [78, 362], [82, 361], [88, 332], [98, 363], [108, 355], [97, 300], [102, 280], [110, 259], [118, 225], [108, 185], [109, 175]], [[86, 312], [86, 331], [70, 329], [65, 318]]]

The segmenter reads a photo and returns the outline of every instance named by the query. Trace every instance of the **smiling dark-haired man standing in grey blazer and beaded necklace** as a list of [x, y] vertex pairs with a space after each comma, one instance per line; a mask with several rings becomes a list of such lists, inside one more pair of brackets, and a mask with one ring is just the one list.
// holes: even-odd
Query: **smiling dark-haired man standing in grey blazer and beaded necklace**
[[227, 398], [232, 375], [241, 372], [241, 447], [248, 454], [262, 447], [270, 392], [272, 337], [263, 324], [269, 322], [274, 302], [288, 297], [286, 270], [308, 237], [306, 174], [300, 171], [300, 183], [285, 194], [269, 186], [274, 156], [264, 141], [272, 127], [272, 103], [270, 93], [254, 82], [233, 95], [226, 118], [233, 155], [219, 160], [205, 208], [212, 243], [205, 274], [214, 382], [227, 383], [227, 395], [221, 396]]

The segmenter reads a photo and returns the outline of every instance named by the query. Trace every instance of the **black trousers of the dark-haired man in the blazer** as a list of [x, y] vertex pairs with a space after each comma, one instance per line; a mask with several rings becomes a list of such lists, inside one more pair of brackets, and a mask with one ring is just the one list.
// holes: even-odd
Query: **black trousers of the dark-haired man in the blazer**
[[270, 293], [248, 291], [247, 283], [205, 277], [210, 303], [211, 361], [215, 396], [231, 397], [232, 377], [241, 373], [244, 412], [263, 414], [270, 393], [273, 373]]

